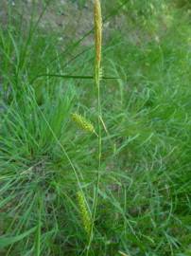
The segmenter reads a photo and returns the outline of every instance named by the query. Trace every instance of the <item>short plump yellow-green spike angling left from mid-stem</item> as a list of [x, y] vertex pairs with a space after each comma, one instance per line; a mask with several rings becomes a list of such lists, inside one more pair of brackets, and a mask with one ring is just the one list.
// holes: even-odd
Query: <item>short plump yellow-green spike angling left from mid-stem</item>
[[88, 133], [96, 133], [94, 125], [89, 120], [82, 117], [81, 115], [79, 115], [77, 113], [73, 113], [72, 119], [73, 119], [73, 121], [75, 121], [77, 123], [77, 125], [80, 129], [82, 129]]

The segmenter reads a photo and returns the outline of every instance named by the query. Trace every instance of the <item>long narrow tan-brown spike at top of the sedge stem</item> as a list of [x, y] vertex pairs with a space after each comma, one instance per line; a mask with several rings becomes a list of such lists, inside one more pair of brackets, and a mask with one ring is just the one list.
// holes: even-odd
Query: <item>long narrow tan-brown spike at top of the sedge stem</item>
[[101, 45], [102, 45], [102, 17], [101, 5], [99, 0], [95, 0], [95, 47], [96, 47], [96, 69], [101, 64]]

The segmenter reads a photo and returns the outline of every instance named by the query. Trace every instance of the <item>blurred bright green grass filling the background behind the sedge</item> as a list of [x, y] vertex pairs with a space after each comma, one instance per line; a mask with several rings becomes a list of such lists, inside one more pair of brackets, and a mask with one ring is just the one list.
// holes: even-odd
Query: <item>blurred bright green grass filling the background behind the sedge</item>
[[[111, 23], [120, 13], [125, 19], [103, 46], [104, 76], [120, 79], [100, 83], [102, 158], [89, 255], [189, 256], [190, 14], [181, 1], [148, 1], [157, 12], [146, 16], [140, 1], [117, 9], [119, 2], [102, 4]], [[73, 38], [63, 49], [61, 31], [39, 27], [35, 12], [20, 29], [13, 11], [0, 30], [0, 255], [86, 255], [78, 191], [93, 213], [97, 137], [71, 114], [98, 131], [94, 80], [82, 79], [93, 76], [94, 46]], [[41, 76], [48, 73], [81, 78]]]

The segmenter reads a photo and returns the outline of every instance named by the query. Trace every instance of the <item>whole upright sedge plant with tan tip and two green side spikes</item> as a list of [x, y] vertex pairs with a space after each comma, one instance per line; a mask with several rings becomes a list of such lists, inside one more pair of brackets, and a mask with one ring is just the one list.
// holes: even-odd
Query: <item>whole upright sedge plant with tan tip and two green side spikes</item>
[[77, 123], [78, 128], [84, 130], [87, 133], [93, 133], [97, 137], [97, 155], [98, 155], [98, 166], [96, 174], [96, 193], [93, 206], [92, 214], [92, 224], [90, 225], [90, 217], [86, 204], [84, 202], [84, 197], [81, 192], [78, 192], [78, 205], [80, 210], [80, 215], [82, 216], [83, 227], [86, 233], [89, 236], [87, 253], [89, 255], [90, 247], [94, 238], [94, 226], [96, 219], [96, 207], [97, 207], [97, 198], [98, 198], [98, 188], [100, 182], [100, 169], [101, 169], [101, 152], [102, 152], [102, 139], [101, 139], [101, 100], [100, 100], [100, 80], [102, 78], [102, 68], [101, 68], [101, 46], [102, 46], [102, 16], [101, 16], [101, 5], [99, 0], [95, 0], [94, 3], [94, 13], [95, 13], [95, 87], [96, 87], [96, 101], [97, 101], [97, 125], [98, 125], [98, 134], [94, 128], [94, 125], [78, 113], [72, 114], [72, 119]]

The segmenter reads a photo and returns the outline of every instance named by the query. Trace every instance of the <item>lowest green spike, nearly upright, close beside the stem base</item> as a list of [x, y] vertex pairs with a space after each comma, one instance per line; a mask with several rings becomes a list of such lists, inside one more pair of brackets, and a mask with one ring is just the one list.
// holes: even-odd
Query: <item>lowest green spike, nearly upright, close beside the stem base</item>
[[91, 221], [90, 212], [87, 208], [83, 193], [78, 191], [77, 198], [78, 198], [78, 207], [80, 210], [80, 217], [81, 217], [81, 221], [83, 223], [83, 228], [86, 231], [87, 235], [90, 236], [92, 221]]

